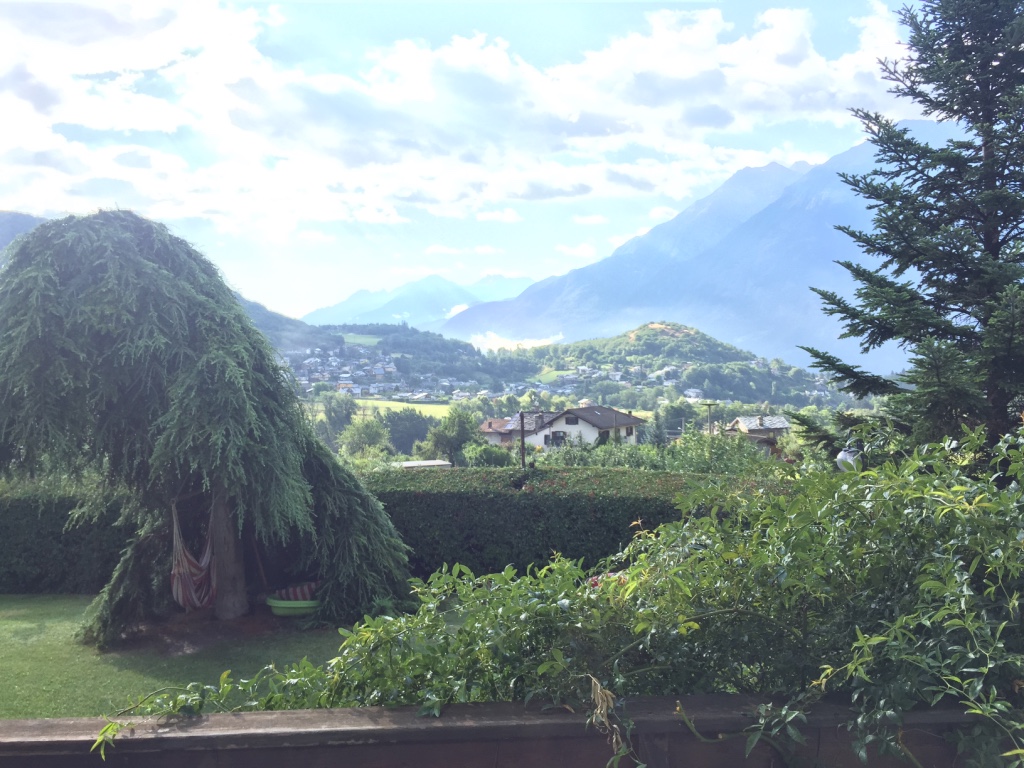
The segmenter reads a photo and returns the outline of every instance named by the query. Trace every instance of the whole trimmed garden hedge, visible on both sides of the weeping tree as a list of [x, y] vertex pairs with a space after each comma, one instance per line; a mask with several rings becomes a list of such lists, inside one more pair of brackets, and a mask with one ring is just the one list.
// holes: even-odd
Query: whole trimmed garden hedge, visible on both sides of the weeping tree
[[[456, 562], [476, 573], [524, 570], [553, 552], [585, 563], [618, 552], [640, 520], [678, 520], [674, 498], [701, 476], [600, 467], [460, 468], [368, 473], [413, 548], [414, 575]], [[31, 484], [0, 486], [0, 593], [96, 593], [131, 531], [112, 506], [95, 523], [65, 530], [79, 499]]]

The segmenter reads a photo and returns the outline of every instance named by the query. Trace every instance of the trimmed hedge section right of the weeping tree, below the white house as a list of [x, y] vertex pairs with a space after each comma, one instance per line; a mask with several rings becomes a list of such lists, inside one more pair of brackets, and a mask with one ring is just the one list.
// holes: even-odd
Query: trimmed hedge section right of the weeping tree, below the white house
[[701, 477], [600, 467], [480, 467], [367, 473], [426, 579], [443, 563], [475, 573], [506, 565], [524, 570], [553, 552], [586, 565], [621, 551], [641, 520], [653, 528], [678, 520], [677, 494]]

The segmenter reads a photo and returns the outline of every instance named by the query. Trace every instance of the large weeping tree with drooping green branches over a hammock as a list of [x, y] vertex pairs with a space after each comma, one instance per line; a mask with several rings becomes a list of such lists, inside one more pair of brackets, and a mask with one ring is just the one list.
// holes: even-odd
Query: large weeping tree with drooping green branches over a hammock
[[104, 211], [9, 247], [0, 402], [6, 468], [90, 467], [131, 492], [137, 532], [88, 639], [115, 640], [172, 592], [239, 616], [267, 557], [319, 583], [324, 621], [404, 591], [383, 508], [314, 436], [215, 267], [162, 225]]

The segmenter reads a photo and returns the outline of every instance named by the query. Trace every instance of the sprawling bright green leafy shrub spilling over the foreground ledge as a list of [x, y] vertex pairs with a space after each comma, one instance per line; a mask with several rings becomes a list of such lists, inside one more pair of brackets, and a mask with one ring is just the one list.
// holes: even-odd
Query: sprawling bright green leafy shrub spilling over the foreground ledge
[[1024, 436], [997, 447], [1009, 483], [964, 472], [983, 440], [979, 430], [870, 472], [798, 470], [781, 494], [705, 487], [683, 509], [715, 514], [641, 530], [593, 569], [562, 558], [524, 577], [442, 569], [416, 585], [415, 614], [343, 631], [324, 668], [267, 668], [243, 681], [245, 703], [225, 677], [145, 706], [437, 713], [579, 703], [596, 680], [620, 695], [772, 696], [785, 706], [762, 710], [760, 727], [794, 737], [828, 691], [850, 702], [863, 755], [872, 742], [905, 754], [901, 713], [946, 703], [976, 716], [957, 734], [965, 766], [1021, 766]]

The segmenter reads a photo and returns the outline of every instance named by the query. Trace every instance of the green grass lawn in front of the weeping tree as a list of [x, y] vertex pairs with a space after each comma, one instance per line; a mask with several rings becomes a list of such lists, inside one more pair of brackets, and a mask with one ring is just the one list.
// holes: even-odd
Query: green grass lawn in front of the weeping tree
[[341, 645], [335, 630], [299, 632], [291, 620], [257, 611], [239, 623], [181, 622], [131, 648], [99, 653], [74, 639], [91, 599], [0, 595], [0, 718], [110, 715], [158, 688], [216, 683], [224, 670], [239, 679], [271, 662], [307, 656], [322, 664]]

